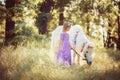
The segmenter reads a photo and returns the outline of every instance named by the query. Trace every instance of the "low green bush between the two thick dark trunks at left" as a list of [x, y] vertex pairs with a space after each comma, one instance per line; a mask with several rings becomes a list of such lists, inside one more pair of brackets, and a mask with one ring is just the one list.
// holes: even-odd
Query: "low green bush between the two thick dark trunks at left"
[[12, 41], [13, 45], [28, 45], [34, 41], [41, 41], [44, 36], [38, 34], [38, 30], [35, 26], [16, 26], [14, 29], [17, 35]]

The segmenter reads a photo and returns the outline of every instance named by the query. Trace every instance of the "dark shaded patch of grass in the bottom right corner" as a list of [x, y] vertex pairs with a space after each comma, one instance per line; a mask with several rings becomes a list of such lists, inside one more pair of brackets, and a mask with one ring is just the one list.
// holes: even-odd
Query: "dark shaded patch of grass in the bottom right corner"
[[94, 71], [85, 74], [83, 80], [120, 80], [120, 68], [117, 70]]

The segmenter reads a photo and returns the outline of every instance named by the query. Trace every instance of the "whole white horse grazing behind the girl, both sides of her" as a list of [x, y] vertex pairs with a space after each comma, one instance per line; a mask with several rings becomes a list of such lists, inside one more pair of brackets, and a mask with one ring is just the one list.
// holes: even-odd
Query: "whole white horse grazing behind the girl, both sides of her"
[[[57, 57], [57, 50], [58, 50], [58, 41], [60, 39], [60, 33], [62, 31], [63, 26], [58, 26], [52, 32], [51, 38], [51, 51], [54, 55], [54, 58]], [[70, 44], [71, 47], [74, 48], [74, 54], [77, 54], [78, 59], [80, 58], [81, 54], [84, 55], [84, 59], [87, 61], [89, 65], [92, 63], [92, 54], [94, 52], [94, 43], [89, 42], [87, 36], [83, 32], [80, 25], [74, 25], [71, 27], [70, 31]], [[76, 36], [77, 33], [77, 36]], [[73, 42], [73, 39], [76, 37], [76, 43]], [[75, 62], [73, 56], [73, 62]]]

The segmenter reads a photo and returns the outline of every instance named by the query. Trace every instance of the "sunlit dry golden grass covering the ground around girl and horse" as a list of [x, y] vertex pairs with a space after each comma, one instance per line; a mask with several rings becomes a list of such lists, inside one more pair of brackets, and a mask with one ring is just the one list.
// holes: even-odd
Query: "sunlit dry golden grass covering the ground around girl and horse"
[[[98, 41], [96, 41], [98, 43]], [[58, 66], [51, 61], [50, 39], [27, 46], [2, 47], [0, 80], [119, 80], [120, 52], [96, 44], [92, 66]]]

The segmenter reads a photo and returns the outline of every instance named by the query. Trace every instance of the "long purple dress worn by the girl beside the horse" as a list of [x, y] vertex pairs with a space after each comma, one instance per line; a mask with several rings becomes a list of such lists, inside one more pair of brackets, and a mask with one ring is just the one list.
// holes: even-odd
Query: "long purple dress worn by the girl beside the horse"
[[62, 41], [62, 49], [60, 45], [58, 47], [58, 55], [57, 55], [57, 62], [60, 64], [68, 64], [71, 65], [71, 49], [69, 43], [69, 34], [68, 33], [61, 33], [60, 40]]

